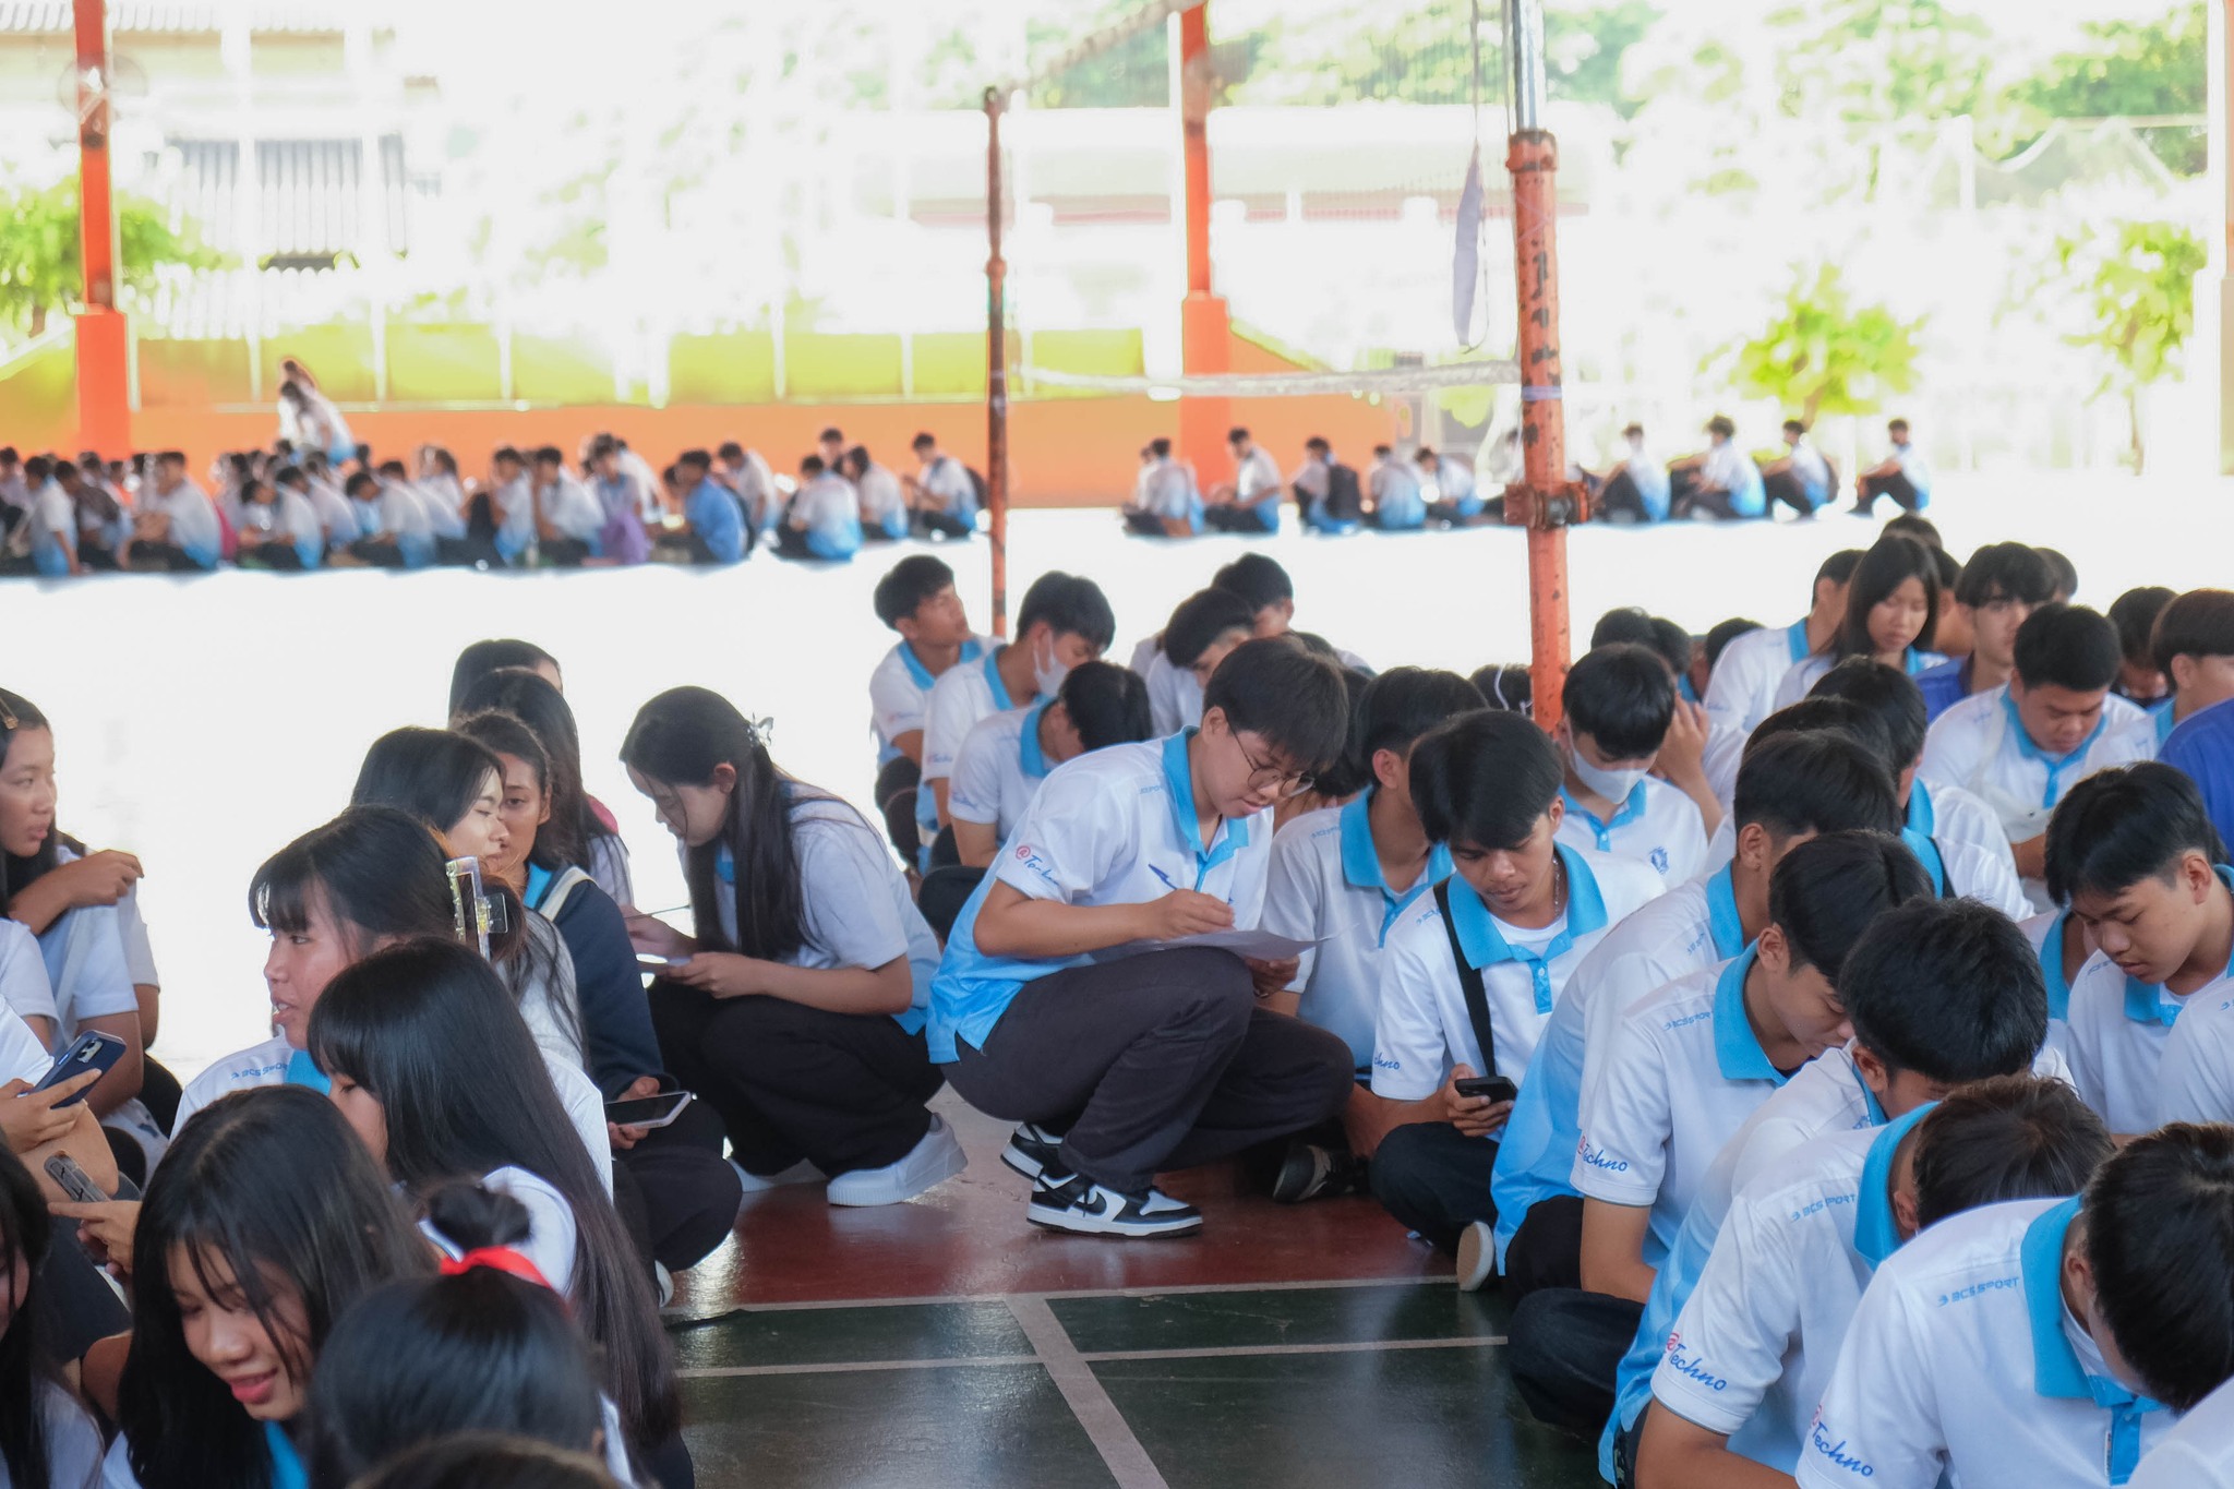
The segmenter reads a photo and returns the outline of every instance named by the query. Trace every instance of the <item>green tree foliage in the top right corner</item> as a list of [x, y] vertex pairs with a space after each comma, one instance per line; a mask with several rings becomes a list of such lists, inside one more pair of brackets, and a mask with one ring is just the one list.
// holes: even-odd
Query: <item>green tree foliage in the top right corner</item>
[[[2031, 134], [2037, 136], [2049, 118], [2149, 118], [2207, 107], [2200, 4], [2183, 4], [2147, 25], [2089, 22], [2087, 40], [2082, 51], [2049, 58], [2046, 67], [2011, 89], [2011, 103]], [[2183, 176], [2203, 174], [2203, 127], [2151, 129], [2149, 147]]]

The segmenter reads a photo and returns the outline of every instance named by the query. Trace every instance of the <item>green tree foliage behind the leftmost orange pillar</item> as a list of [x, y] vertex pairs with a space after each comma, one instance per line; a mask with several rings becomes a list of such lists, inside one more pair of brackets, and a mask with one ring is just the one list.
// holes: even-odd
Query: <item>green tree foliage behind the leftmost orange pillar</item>
[[[80, 308], [78, 181], [0, 192], [0, 326], [40, 335], [56, 310]], [[192, 228], [174, 230], [161, 205], [116, 196], [121, 292], [147, 295], [165, 268], [217, 268]]]

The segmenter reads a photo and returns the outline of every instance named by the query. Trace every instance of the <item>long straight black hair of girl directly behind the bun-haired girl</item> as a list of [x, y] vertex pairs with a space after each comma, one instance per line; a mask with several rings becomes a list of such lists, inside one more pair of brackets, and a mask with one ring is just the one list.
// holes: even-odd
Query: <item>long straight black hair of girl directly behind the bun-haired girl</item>
[[349, 967], [311, 1009], [311, 1058], [380, 1101], [389, 1174], [416, 1194], [521, 1168], [574, 1210], [574, 1317], [637, 1447], [679, 1420], [659, 1304], [590, 1152], [505, 984], [454, 940], [413, 940]]

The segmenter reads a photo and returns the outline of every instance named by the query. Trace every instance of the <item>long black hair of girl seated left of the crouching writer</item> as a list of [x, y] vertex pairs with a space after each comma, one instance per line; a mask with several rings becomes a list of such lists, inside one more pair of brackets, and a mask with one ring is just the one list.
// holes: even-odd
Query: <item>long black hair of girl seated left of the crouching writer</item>
[[[639, 708], [621, 741], [621, 763], [666, 786], [710, 786], [717, 766], [737, 772], [722, 833], [684, 851], [697, 938], [699, 944], [724, 949], [715, 862], [728, 848], [737, 880], [728, 888], [737, 906], [737, 944], [726, 949], [768, 962], [795, 955], [806, 944], [806, 895], [791, 810], [802, 799], [836, 797], [777, 770], [760, 730], [710, 688], [668, 688]], [[862, 830], [869, 830], [867, 824]]]

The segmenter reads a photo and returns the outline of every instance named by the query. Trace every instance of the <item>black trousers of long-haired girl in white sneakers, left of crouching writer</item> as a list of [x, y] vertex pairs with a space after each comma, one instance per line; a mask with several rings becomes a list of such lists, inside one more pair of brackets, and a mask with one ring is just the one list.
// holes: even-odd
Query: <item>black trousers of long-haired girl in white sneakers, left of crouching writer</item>
[[831, 1014], [784, 998], [713, 998], [652, 982], [652, 1034], [668, 1069], [713, 1105], [748, 1174], [806, 1159], [829, 1176], [898, 1163], [932, 1127], [943, 1078], [923, 1036], [882, 1014]]

